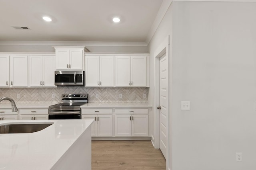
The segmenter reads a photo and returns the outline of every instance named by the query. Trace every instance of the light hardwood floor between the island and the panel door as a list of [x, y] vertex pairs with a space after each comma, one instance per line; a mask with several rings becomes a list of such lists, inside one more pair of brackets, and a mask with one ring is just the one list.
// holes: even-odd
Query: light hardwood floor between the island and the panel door
[[92, 141], [92, 170], [165, 170], [166, 160], [151, 141]]

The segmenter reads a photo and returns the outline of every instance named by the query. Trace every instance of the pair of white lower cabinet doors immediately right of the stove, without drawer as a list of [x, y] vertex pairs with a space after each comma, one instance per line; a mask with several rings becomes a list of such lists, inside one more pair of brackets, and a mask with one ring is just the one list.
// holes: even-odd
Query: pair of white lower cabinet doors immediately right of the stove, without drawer
[[113, 115], [82, 115], [82, 119], [94, 119], [91, 126], [92, 137], [113, 136]]

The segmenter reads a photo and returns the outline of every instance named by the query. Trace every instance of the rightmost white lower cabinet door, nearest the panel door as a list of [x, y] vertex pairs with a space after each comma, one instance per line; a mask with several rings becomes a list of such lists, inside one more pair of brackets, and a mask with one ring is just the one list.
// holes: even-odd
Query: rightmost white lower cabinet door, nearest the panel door
[[132, 115], [132, 136], [148, 136], [148, 115]]

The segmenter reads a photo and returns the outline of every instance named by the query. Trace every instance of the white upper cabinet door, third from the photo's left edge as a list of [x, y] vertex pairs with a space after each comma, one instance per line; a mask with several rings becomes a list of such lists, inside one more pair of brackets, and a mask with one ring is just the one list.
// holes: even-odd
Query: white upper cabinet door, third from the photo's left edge
[[43, 84], [43, 57], [29, 56], [29, 86], [40, 87]]

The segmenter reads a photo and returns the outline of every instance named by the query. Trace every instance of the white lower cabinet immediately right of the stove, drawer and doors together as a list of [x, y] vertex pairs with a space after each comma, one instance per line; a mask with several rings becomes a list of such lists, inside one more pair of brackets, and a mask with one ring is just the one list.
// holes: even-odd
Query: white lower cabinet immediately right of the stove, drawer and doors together
[[82, 108], [82, 119], [94, 119], [92, 137], [113, 136], [113, 109]]

